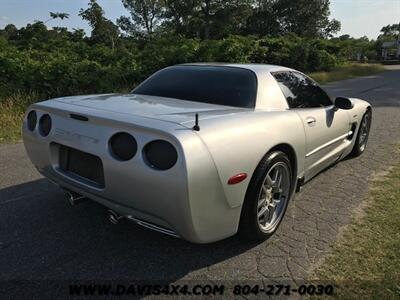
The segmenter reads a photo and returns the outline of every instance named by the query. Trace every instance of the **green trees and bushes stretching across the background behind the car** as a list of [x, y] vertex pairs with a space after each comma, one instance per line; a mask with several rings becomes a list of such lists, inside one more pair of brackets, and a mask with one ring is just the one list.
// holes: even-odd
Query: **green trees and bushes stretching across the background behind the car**
[[43, 97], [128, 91], [154, 71], [185, 62], [268, 63], [304, 72], [357, 57], [376, 59], [377, 41], [333, 38], [329, 0], [122, 0], [129, 16], [112, 22], [96, 0], [79, 12], [91, 33], [48, 28], [67, 13], [0, 29], [0, 96]]

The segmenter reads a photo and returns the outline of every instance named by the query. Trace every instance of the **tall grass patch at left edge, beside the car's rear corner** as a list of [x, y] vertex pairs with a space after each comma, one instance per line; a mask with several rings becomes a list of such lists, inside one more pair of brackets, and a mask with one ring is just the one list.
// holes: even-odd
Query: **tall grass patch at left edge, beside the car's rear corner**
[[17, 93], [0, 98], [0, 143], [14, 143], [21, 139], [21, 126], [26, 108], [35, 101], [35, 94]]

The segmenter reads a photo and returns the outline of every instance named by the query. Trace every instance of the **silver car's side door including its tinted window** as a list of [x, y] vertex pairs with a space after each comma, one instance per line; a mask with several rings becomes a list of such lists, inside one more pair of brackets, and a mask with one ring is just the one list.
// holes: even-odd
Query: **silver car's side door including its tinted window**
[[350, 118], [338, 110], [327, 93], [298, 72], [273, 74], [288, 105], [303, 122], [306, 136], [305, 179], [334, 163], [349, 144]]

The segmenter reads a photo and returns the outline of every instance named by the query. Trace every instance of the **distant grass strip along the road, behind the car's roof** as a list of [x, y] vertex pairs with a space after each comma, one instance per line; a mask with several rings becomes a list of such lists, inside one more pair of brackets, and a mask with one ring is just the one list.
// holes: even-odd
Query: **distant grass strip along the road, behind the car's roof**
[[384, 70], [385, 68], [379, 64], [345, 64], [329, 72], [314, 72], [308, 75], [317, 82], [324, 84], [353, 77], [372, 75]]

